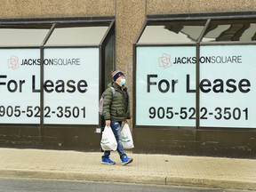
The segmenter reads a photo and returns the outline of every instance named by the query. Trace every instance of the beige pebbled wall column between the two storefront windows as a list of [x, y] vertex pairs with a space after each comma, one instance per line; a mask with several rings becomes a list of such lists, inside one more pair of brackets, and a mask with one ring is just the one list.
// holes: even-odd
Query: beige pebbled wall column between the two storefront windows
[[116, 0], [116, 68], [124, 71], [125, 76], [127, 76], [131, 104], [133, 72], [132, 45], [139, 35], [145, 20], [146, 0]]

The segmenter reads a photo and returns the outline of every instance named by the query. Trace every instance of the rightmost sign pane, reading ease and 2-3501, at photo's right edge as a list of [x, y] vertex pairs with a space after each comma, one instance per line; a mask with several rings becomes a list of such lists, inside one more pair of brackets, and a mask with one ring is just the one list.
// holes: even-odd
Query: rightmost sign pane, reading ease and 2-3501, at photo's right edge
[[256, 127], [256, 46], [201, 46], [200, 125]]

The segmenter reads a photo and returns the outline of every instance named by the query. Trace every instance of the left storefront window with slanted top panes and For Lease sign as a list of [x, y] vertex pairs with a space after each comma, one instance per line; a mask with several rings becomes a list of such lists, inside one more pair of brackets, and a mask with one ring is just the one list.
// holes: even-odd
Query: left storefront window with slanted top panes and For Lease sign
[[100, 69], [114, 62], [100, 54], [114, 50], [114, 21], [45, 22], [0, 21], [0, 124], [100, 124]]

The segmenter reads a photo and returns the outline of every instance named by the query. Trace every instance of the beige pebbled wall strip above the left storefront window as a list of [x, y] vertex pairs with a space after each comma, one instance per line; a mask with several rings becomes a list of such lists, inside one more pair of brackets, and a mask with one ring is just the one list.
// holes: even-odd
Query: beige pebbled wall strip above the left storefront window
[[116, 0], [0, 0], [0, 18], [115, 15]]

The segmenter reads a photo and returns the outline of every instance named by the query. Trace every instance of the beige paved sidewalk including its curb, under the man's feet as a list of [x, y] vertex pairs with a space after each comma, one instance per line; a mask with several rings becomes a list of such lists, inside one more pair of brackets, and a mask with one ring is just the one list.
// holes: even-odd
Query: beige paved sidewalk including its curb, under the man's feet
[[132, 164], [100, 164], [101, 153], [0, 148], [0, 176], [96, 180], [256, 190], [256, 160], [203, 156], [127, 155]]

